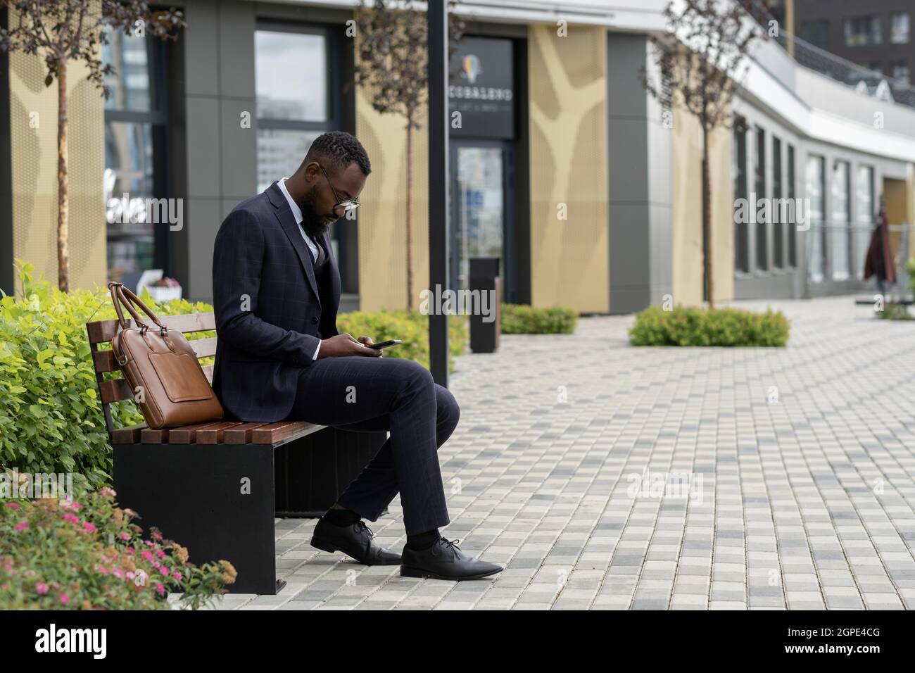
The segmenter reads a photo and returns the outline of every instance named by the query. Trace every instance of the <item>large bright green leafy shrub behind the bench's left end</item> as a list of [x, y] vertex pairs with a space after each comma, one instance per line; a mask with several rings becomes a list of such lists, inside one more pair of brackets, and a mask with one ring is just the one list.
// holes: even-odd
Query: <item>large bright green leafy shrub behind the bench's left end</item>
[[[87, 322], [115, 317], [111, 297], [107, 288], [66, 294], [34, 281], [31, 265], [18, 270], [23, 297], [0, 297], [0, 467], [72, 472], [83, 487], [111, 483], [112, 451], [86, 339]], [[160, 315], [212, 310], [183, 299], [150, 306]], [[132, 401], [111, 409], [116, 427], [143, 420]]]

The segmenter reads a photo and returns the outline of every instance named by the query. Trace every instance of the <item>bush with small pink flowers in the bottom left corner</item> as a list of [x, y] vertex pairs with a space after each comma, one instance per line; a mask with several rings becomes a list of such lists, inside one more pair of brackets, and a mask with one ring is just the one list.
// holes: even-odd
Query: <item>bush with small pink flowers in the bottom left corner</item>
[[[72, 494], [71, 494], [72, 495]], [[188, 550], [114, 502], [110, 488], [0, 506], [0, 610], [197, 609], [235, 581], [229, 561], [188, 563]]]

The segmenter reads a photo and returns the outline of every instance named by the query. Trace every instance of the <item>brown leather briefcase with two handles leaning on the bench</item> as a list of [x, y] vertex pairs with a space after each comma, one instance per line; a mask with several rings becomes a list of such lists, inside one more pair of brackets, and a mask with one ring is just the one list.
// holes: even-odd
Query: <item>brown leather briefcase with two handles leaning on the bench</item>
[[[112, 350], [146, 425], [152, 429], [171, 428], [222, 418], [222, 405], [184, 334], [164, 327], [124, 284], [109, 283], [108, 288], [121, 327], [112, 339]], [[124, 320], [122, 304], [133, 316], [136, 327]], [[147, 325], [135, 307], [155, 327]]]

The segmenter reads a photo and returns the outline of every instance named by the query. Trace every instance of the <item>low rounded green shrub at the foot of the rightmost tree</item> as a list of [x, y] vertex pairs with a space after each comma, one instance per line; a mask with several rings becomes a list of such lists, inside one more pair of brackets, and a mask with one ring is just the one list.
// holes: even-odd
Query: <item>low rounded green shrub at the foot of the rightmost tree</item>
[[780, 311], [651, 306], [630, 327], [633, 346], [783, 346], [788, 319]]

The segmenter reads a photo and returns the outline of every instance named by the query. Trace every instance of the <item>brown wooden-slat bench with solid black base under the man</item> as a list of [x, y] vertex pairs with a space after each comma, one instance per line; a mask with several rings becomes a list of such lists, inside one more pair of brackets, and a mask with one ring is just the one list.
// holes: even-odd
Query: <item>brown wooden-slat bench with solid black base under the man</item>
[[[169, 330], [186, 334], [216, 328], [212, 313], [161, 320]], [[230, 592], [278, 592], [285, 581], [276, 579], [274, 451], [325, 427], [302, 421], [219, 421], [170, 429], [114, 428], [111, 405], [135, 395], [110, 348], [99, 348], [110, 344], [117, 330], [117, 320], [86, 325], [112, 443], [118, 504], [134, 509], [147, 531], [156, 526], [187, 547], [191, 562], [229, 560], [238, 572]], [[197, 357], [205, 358], [216, 353], [216, 342], [209, 337], [190, 343]], [[211, 383], [212, 365], [204, 366], [204, 372]], [[365, 455], [361, 451], [360, 457]]]

